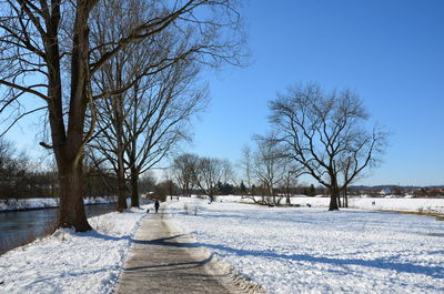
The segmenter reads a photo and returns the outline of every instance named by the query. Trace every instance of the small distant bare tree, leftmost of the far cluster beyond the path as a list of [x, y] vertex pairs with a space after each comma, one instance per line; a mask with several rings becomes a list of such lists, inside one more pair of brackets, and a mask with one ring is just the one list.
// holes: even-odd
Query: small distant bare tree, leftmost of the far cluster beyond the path
[[195, 154], [185, 153], [174, 159], [172, 164], [173, 174], [182, 193], [186, 197], [191, 197], [194, 189], [194, 174], [199, 158]]

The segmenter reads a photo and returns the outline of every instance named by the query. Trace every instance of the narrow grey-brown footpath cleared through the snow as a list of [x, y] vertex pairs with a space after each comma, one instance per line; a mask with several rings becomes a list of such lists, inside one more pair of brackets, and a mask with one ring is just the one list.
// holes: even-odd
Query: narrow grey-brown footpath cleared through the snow
[[163, 211], [151, 213], [134, 236], [117, 293], [244, 293], [218, 271], [190, 236], [173, 232]]

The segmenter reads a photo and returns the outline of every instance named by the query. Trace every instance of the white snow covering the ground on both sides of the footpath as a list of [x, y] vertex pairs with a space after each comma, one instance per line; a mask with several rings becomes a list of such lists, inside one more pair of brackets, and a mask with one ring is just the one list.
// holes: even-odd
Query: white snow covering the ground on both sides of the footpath
[[[444, 293], [444, 222], [370, 211], [436, 211], [442, 199], [353, 199], [365, 210], [336, 212], [327, 197], [294, 197], [300, 207], [240, 201], [181, 197], [167, 206], [173, 226], [272, 294]], [[0, 293], [112, 293], [145, 211], [90, 217], [95, 231], [58, 230], [7, 252]]]

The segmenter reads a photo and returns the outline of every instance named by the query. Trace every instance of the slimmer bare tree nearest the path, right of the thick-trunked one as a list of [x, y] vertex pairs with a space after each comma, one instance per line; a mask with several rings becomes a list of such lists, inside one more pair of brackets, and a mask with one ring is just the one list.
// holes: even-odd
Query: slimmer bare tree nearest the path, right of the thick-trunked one
[[189, 140], [192, 119], [205, 105], [205, 88], [192, 87], [195, 74], [192, 63], [179, 61], [159, 74], [159, 87], [138, 88], [139, 99], [134, 93], [137, 103], [125, 120], [133, 206], [138, 206], [139, 174], [158, 164], [179, 142]]

